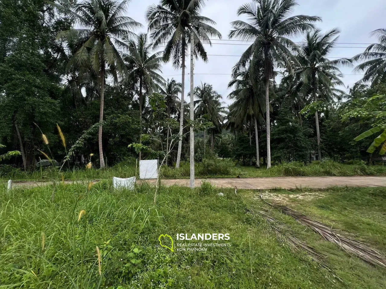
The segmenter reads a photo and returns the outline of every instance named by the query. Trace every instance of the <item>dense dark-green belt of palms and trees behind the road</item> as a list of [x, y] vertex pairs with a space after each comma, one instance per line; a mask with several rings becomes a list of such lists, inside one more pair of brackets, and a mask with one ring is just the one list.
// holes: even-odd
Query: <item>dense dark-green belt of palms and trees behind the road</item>
[[[162, 158], [178, 133], [181, 143], [166, 162], [174, 166], [179, 155], [181, 163], [189, 158], [184, 79], [163, 79], [163, 61], [185, 69], [191, 30], [195, 54], [207, 61], [205, 45], [221, 35], [215, 22], [201, 15], [205, 1], [169, 0], [147, 9], [151, 34], [135, 35], [141, 24], [126, 16], [129, 4], [0, 3], [0, 143], [5, 145], [0, 155], [21, 153], [3, 158], [2, 175], [15, 168], [41, 170], [37, 164], [44, 154], [61, 166], [71, 147], [64, 170], [90, 161], [103, 167], [103, 159], [112, 166], [130, 157]], [[273, 165], [307, 163], [314, 154], [318, 160], [381, 160], [378, 155], [386, 151], [384, 30], [374, 32], [379, 43], [363, 54], [330, 60], [339, 29], [323, 33], [316, 28], [319, 17], [291, 15], [295, 5], [294, 0], [255, 0], [239, 8], [238, 15], [249, 18], [232, 22], [229, 37], [254, 44], [232, 71], [229, 98], [234, 102], [228, 110], [225, 96], [210, 83], [195, 87], [195, 117], [211, 123], [196, 132], [196, 161], [218, 156], [259, 168], [261, 163], [269, 167], [271, 156]], [[304, 34], [306, 45], [292, 42], [295, 34]], [[163, 52], [153, 51], [164, 42]], [[346, 93], [340, 90], [339, 67], [354, 62], [366, 71], [361, 82], [369, 85], [356, 84]], [[98, 136], [93, 132], [76, 143], [98, 123]], [[142, 142], [141, 134], [157, 141], [144, 141], [147, 152], [128, 148]]]

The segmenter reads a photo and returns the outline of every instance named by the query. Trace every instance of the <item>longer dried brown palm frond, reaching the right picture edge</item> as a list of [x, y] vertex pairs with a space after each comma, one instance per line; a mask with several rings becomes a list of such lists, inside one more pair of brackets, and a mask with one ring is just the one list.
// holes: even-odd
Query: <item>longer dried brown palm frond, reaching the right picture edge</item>
[[260, 195], [260, 198], [271, 207], [276, 208], [282, 213], [293, 217], [302, 225], [305, 225], [312, 229], [314, 232], [317, 232], [318, 234], [322, 235], [325, 240], [330, 241], [335, 245], [338, 245], [345, 252], [349, 254], [354, 254], [372, 265], [379, 265], [381, 267], [386, 268], [386, 257], [384, 252], [373, 249], [369, 245], [353, 239], [349, 236], [349, 234], [344, 234], [340, 230], [332, 229], [326, 224], [315, 221], [307, 217], [306, 215], [296, 212], [286, 205], [268, 203], [263, 199], [262, 194]]

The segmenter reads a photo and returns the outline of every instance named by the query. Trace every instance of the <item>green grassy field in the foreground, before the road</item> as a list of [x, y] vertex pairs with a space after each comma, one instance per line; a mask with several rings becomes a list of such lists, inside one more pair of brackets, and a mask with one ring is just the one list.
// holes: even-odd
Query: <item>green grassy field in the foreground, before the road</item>
[[[386, 188], [263, 193], [386, 250]], [[113, 190], [109, 180], [90, 190], [86, 184], [0, 188], [0, 288], [386, 287], [386, 269], [343, 252], [273, 210], [298, 239], [328, 256], [330, 271], [309, 255], [292, 252], [264, 218], [250, 213], [269, 208], [259, 194], [239, 190], [235, 195], [208, 184], [194, 191], [170, 187], [161, 188], [153, 205], [153, 187]], [[302, 195], [308, 197], [296, 198]], [[174, 249], [178, 242], [195, 242], [177, 241], [177, 233], [227, 233], [230, 240], [223, 242], [231, 247], [171, 252], [159, 245], [161, 234], [173, 237]]]

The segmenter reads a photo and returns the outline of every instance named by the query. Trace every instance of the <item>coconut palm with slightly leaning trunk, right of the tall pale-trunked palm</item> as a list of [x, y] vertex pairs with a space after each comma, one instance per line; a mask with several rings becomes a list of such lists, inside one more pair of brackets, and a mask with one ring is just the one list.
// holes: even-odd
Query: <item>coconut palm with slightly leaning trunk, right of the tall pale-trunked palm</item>
[[[325, 34], [320, 30], [307, 32], [305, 36], [305, 45], [299, 48], [297, 60], [300, 67], [295, 71], [300, 81], [300, 92], [303, 96], [311, 97], [310, 102], [317, 102], [318, 96], [324, 97], [329, 101], [334, 96], [342, 93], [336, 88], [338, 85], [343, 85], [342, 77], [338, 66], [350, 65], [349, 59], [329, 60], [328, 54], [334, 48], [339, 39], [339, 29], [332, 29]], [[320, 148], [320, 130], [318, 110], [315, 111], [315, 123], [318, 142], [318, 156], [322, 159]]]

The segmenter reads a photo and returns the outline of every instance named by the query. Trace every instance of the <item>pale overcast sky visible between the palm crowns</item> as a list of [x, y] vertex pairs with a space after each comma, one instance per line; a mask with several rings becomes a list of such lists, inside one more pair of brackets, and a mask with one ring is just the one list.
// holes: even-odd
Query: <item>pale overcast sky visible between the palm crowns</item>
[[[217, 25], [215, 28], [222, 34], [222, 40], [213, 40], [213, 45], [206, 47], [209, 61], [204, 63], [198, 60], [195, 64], [194, 84], [197, 86], [201, 82], [208, 82], [213, 88], [223, 96], [223, 101], [230, 104], [227, 96], [230, 90], [227, 89], [230, 81], [232, 67], [237, 62], [237, 56], [215, 56], [215, 55], [241, 55], [247, 45], [240, 45], [239, 41], [228, 40], [231, 29], [230, 22], [241, 19], [237, 17], [237, 8], [243, 3], [251, 1], [243, 0], [207, 0], [201, 15], [213, 19]], [[157, 1], [131, 0], [128, 5], [128, 15], [134, 20], [141, 22], [144, 29], [139, 32], [146, 32], [147, 22], [145, 11], [147, 7]], [[331, 52], [331, 59], [340, 57], [352, 57], [363, 52], [370, 43], [377, 42], [375, 37], [370, 37], [370, 32], [386, 28], [384, 22], [384, 12], [386, 11], [385, 0], [299, 0], [299, 5], [295, 8], [294, 15], [316, 15], [322, 17], [322, 22], [317, 27], [323, 31], [332, 28], [341, 30], [339, 44]], [[302, 41], [302, 37], [293, 39]], [[217, 44], [215, 44], [217, 43]], [[213, 55], [215, 54], [215, 55]], [[345, 86], [352, 86], [361, 75], [354, 75], [352, 68], [341, 68], [344, 76]], [[173, 69], [171, 64], [165, 64], [162, 69], [165, 79], [172, 78], [181, 82], [181, 71]], [[186, 58], [186, 73], [190, 72], [190, 58]], [[204, 75], [205, 73], [205, 75]], [[190, 91], [190, 75], [185, 77], [185, 97]], [[186, 101], [186, 98], [185, 98]]]

